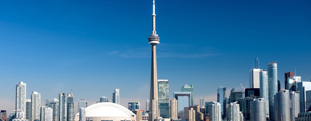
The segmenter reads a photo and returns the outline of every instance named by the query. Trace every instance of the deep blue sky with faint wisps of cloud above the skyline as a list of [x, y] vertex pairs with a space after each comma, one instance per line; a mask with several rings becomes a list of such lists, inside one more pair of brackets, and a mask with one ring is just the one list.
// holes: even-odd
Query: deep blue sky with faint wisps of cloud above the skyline
[[[0, 110], [14, 110], [15, 84], [46, 99], [73, 90], [90, 104], [120, 89], [121, 105], [149, 98], [151, 0], [2, 1]], [[216, 101], [219, 86], [248, 87], [254, 58], [311, 78], [311, 1], [156, 1], [158, 79], [170, 99], [184, 84]], [[229, 94], [227, 93], [227, 96]], [[77, 108], [77, 105], [76, 105]], [[77, 109], [76, 109], [77, 111]]]

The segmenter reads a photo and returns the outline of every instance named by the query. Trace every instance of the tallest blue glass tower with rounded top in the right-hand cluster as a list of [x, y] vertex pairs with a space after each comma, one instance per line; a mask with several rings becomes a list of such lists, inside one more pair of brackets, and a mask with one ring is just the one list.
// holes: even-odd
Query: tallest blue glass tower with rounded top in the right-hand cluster
[[274, 120], [274, 95], [277, 93], [277, 62], [268, 63], [269, 116]]

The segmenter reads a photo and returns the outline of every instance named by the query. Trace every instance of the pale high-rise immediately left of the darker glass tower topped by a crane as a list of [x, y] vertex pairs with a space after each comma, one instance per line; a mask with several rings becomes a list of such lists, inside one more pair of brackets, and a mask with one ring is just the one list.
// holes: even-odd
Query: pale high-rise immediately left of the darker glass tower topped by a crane
[[67, 121], [67, 94], [59, 94], [58, 121]]

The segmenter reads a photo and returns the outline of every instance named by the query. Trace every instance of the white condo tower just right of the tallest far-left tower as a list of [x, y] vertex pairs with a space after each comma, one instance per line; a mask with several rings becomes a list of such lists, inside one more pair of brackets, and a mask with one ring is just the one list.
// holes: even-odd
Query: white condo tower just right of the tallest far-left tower
[[31, 121], [40, 120], [41, 95], [38, 92], [31, 93]]

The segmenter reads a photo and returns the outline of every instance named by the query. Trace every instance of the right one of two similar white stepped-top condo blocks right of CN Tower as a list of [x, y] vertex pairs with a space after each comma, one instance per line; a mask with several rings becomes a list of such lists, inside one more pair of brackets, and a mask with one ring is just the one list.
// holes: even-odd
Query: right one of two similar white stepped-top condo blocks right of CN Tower
[[228, 121], [241, 121], [240, 105], [237, 102], [229, 104], [226, 117]]

